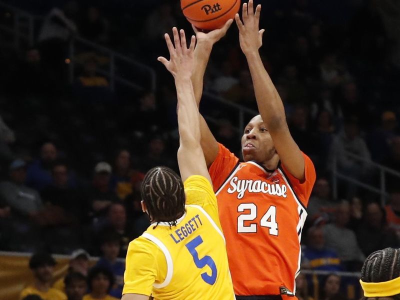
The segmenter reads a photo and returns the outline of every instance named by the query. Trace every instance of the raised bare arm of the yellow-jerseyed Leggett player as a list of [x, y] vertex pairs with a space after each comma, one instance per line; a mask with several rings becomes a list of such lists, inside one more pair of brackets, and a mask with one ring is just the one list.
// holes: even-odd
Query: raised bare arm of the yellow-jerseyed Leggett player
[[184, 31], [178, 32], [177, 28], [173, 27], [172, 32], [174, 44], [169, 35], [165, 34], [170, 59], [158, 57], [158, 60], [165, 65], [175, 79], [179, 129], [177, 158], [180, 176], [184, 181], [190, 175], [202, 175], [211, 181], [200, 146], [200, 115], [190, 79], [194, 67], [195, 37], [191, 37], [187, 48]]

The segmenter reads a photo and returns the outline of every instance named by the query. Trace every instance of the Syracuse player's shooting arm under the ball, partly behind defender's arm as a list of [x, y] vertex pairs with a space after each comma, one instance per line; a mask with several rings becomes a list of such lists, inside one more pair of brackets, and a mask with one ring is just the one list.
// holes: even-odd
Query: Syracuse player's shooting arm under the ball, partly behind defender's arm
[[[226, 21], [225, 25], [220, 29], [212, 30], [208, 33], [197, 30], [194, 26], [193, 30], [196, 33], [197, 44], [194, 49], [194, 68], [191, 75], [191, 82], [193, 84], [194, 97], [196, 104], [199, 106], [201, 95], [203, 92], [203, 78], [205, 68], [211, 54], [212, 46], [225, 34], [233, 20]], [[218, 143], [212, 135], [211, 130], [208, 128], [203, 116], [200, 115], [200, 135], [201, 147], [203, 149], [204, 158], [207, 167], [215, 160], [218, 154]]]

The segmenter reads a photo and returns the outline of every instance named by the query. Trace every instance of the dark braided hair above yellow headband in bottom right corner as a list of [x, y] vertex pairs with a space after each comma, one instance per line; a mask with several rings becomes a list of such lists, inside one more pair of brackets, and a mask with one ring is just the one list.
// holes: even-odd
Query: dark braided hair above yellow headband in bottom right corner
[[[385, 248], [371, 253], [361, 269], [364, 282], [384, 282], [400, 277], [400, 249]], [[400, 300], [400, 294], [391, 298]], [[363, 298], [372, 299], [372, 298]], [[375, 298], [377, 299], [377, 298]]]

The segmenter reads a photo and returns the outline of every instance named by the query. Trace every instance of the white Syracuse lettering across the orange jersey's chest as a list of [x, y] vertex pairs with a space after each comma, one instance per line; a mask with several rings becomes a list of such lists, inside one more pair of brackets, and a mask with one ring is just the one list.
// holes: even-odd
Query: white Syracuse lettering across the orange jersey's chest
[[244, 192], [262, 192], [273, 196], [279, 196], [286, 198], [287, 186], [285, 184], [273, 183], [270, 184], [263, 180], [251, 180], [251, 179], [239, 179], [234, 176], [229, 181], [228, 193], [237, 192], [237, 198], [241, 199], [244, 196]]

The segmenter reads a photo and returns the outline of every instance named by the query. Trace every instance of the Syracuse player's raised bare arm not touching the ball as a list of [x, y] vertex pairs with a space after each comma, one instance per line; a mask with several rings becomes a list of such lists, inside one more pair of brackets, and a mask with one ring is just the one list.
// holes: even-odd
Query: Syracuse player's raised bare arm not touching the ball
[[243, 4], [243, 21], [236, 14], [240, 47], [250, 69], [258, 110], [272, 137], [279, 158], [287, 170], [301, 181], [304, 179], [304, 158], [290, 135], [282, 100], [258, 52], [262, 45], [262, 34], [265, 31], [259, 30], [260, 11], [261, 5], [257, 5], [254, 12], [253, 0], [249, 0], [248, 4]]

